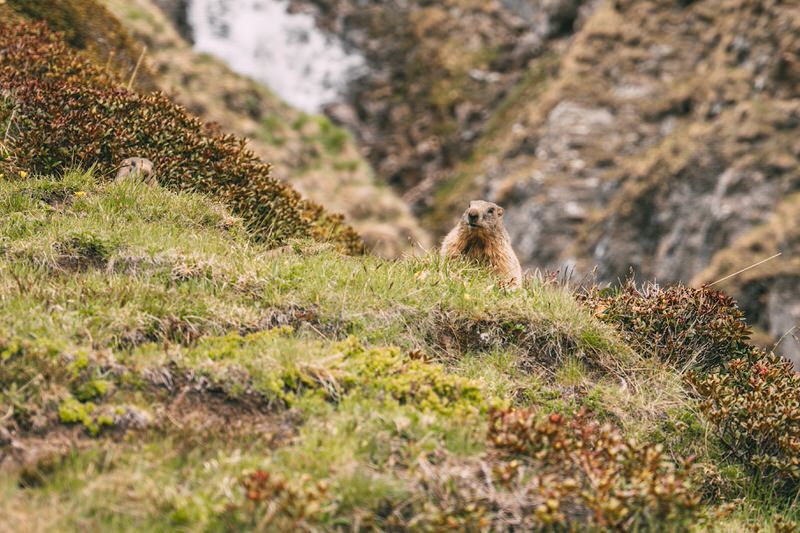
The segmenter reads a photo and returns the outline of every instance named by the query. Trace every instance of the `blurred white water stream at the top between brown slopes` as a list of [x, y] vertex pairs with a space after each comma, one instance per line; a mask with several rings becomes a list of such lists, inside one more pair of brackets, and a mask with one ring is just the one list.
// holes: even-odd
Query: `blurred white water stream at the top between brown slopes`
[[192, 0], [195, 49], [270, 87], [286, 102], [314, 113], [341, 99], [364, 58], [345, 49], [284, 0]]

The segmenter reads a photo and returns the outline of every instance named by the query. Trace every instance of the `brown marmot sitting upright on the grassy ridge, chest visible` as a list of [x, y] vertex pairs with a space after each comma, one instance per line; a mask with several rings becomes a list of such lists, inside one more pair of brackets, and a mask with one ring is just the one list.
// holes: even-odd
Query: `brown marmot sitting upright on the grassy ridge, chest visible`
[[442, 242], [442, 257], [463, 255], [488, 265], [507, 287], [522, 283], [522, 267], [503, 225], [504, 210], [492, 202], [474, 200]]

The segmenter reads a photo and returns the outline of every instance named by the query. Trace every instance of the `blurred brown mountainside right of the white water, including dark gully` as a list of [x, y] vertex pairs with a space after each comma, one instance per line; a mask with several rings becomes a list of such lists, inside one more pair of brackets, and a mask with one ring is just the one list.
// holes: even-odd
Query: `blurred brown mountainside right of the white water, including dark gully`
[[782, 274], [726, 288], [797, 360], [797, 239], [771, 222], [800, 176], [794, 2], [291, 6], [367, 57], [328, 114], [434, 236], [486, 197], [526, 266], [703, 283], [771, 255], [739, 253], [757, 232], [784, 246]]

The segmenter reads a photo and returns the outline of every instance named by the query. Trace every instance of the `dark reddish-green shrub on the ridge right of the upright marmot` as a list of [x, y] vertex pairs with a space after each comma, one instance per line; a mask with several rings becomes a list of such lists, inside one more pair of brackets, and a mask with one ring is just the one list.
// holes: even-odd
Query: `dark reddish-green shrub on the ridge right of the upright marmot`
[[744, 314], [724, 293], [677, 285], [619, 289], [581, 295], [595, 315], [617, 327], [629, 344], [678, 366], [712, 369], [750, 350]]

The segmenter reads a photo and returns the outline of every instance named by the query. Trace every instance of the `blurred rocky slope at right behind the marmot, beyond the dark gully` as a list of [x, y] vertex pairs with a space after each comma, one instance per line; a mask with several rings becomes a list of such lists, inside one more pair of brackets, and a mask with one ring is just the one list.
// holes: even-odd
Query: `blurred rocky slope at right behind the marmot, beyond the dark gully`
[[[456, 206], [489, 196], [524, 263], [612, 283], [631, 270], [712, 282], [765, 259], [736, 243], [800, 186], [798, 34], [791, 2], [600, 4], [551, 78], [510, 95], [513, 113], [442, 182], [428, 220], [444, 231]], [[794, 230], [771, 227], [788, 265]], [[798, 280], [762, 281], [727, 288], [774, 343], [800, 321], [786, 293]], [[784, 309], [767, 311], [775, 299]], [[791, 338], [781, 350], [798, 354]]]

